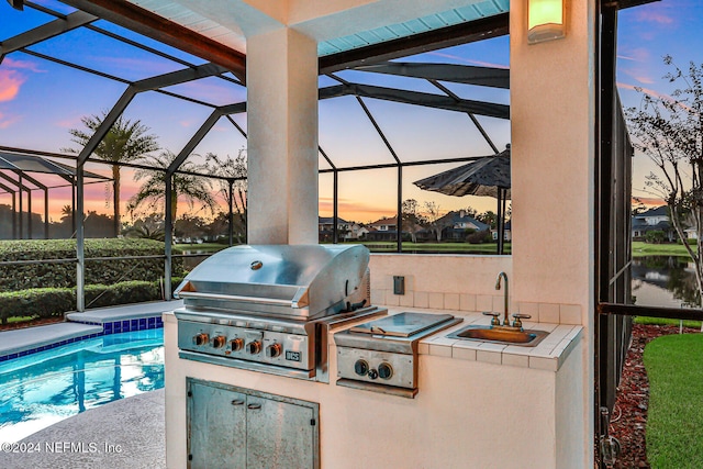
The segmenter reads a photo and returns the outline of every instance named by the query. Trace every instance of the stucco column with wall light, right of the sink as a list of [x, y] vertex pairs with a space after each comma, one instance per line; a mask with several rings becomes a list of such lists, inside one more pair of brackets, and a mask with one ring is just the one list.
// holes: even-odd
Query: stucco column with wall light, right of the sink
[[[510, 2], [513, 301], [550, 321], [579, 305], [581, 395], [557, 395], [557, 467], [593, 467], [594, 0], [566, 1], [566, 37], [527, 44]], [[555, 308], [556, 305], [556, 308]], [[566, 400], [570, 402], [565, 402]], [[528, 405], [526, 403], [525, 405]]]

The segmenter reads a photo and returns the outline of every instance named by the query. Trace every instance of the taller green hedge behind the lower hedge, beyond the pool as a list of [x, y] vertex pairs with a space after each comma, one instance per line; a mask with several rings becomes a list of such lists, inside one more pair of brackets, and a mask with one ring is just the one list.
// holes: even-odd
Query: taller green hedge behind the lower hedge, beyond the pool
[[[86, 258], [164, 255], [154, 239], [86, 239]], [[76, 239], [18, 239], [0, 242], [0, 259], [49, 260], [76, 258]], [[183, 275], [182, 259], [174, 259], [172, 275]], [[86, 260], [86, 284], [114, 284], [127, 280], [155, 281], [164, 276], [164, 259]], [[0, 292], [76, 287], [76, 263], [0, 265]]]

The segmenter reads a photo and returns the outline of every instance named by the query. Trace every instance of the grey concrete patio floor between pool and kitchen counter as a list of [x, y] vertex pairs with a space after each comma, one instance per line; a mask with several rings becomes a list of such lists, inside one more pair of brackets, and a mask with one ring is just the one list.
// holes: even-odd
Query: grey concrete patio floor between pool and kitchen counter
[[10, 448], [5, 444], [0, 468], [166, 468], [164, 395], [160, 389], [121, 399], [44, 428]]

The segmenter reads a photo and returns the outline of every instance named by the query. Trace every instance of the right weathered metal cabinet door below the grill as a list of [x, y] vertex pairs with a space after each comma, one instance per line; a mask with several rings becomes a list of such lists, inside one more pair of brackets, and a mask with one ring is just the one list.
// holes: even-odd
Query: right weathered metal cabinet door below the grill
[[247, 469], [312, 469], [313, 410], [272, 399], [247, 399]]

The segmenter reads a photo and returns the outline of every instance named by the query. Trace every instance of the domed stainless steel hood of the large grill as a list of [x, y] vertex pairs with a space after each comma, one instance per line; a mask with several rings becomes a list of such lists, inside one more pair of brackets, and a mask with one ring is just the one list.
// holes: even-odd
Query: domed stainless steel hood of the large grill
[[312, 320], [368, 303], [369, 252], [352, 245], [246, 245], [221, 250], [174, 292], [185, 309]]

